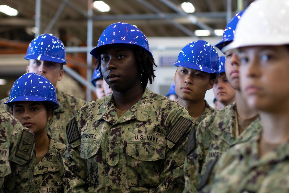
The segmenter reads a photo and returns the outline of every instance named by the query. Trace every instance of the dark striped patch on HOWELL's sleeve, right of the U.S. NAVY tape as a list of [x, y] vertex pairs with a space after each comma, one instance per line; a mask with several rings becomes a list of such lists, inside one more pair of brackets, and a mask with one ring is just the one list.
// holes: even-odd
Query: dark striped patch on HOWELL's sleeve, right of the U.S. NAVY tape
[[192, 121], [184, 117], [179, 117], [173, 128], [166, 135], [166, 139], [176, 144], [184, 135], [186, 130], [192, 125]]

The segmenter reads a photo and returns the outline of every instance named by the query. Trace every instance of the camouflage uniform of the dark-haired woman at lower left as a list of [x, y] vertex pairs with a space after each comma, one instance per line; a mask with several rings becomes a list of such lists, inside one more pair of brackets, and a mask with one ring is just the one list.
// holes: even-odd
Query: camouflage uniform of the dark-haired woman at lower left
[[62, 157], [65, 145], [50, 139], [49, 150], [35, 166], [35, 192], [62, 193], [64, 168]]

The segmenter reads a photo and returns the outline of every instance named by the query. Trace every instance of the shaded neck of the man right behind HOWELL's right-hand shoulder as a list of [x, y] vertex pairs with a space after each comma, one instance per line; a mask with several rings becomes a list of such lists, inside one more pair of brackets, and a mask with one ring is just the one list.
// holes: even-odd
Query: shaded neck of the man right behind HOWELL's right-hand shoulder
[[201, 116], [203, 112], [205, 111], [206, 104], [205, 104], [204, 99], [198, 102], [195, 102], [195, 101], [192, 102], [192, 101], [183, 100], [179, 98], [178, 102], [187, 109], [189, 115], [193, 117], [194, 120], [199, 118], [199, 116]]

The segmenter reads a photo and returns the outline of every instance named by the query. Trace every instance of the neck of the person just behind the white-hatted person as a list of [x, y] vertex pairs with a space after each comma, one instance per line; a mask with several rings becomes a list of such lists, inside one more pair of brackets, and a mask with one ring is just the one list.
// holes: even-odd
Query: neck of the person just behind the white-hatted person
[[246, 100], [244, 97], [242, 97], [241, 92], [238, 90], [236, 90], [236, 106], [238, 116], [243, 119], [250, 119], [258, 115], [258, 111], [253, 110], [248, 106]]

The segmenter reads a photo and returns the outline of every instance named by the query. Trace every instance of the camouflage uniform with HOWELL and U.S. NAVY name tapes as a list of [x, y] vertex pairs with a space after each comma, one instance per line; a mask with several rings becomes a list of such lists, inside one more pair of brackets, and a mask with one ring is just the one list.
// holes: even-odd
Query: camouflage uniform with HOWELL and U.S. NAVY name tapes
[[112, 96], [87, 103], [66, 128], [65, 192], [182, 192], [188, 111], [146, 88], [118, 119]]

